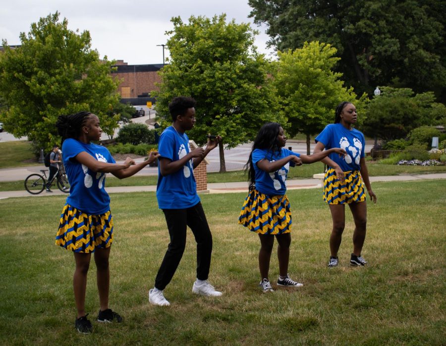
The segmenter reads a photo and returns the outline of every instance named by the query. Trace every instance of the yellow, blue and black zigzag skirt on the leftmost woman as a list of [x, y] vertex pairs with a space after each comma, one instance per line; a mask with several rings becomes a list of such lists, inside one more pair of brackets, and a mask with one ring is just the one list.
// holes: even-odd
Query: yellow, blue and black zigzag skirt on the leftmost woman
[[110, 247], [113, 242], [111, 211], [87, 214], [65, 204], [60, 215], [56, 245], [74, 252], [94, 252], [96, 248]]

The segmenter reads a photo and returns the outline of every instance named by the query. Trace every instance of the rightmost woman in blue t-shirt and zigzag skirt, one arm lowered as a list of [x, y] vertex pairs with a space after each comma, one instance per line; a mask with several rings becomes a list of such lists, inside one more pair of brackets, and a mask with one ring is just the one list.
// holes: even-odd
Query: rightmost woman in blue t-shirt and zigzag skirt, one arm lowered
[[364, 135], [353, 128], [356, 123], [356, 107], [350, 102], [341, 102], [335, 110], [335, 123], [326, 126], [316, 137], [314, 153], [330, 148], [344, 148], [347, 155], [330, 155], [322, 160], [329, 168], [324, 178], [324, 200], [330, 207], [333, 219], [330, 237], [330, 260], [328, 266], [338, 264], [337, 251], [345, 227], [345, 204], [348, 204], [355, 221], [353, 232], [353, 253], [350, 256], [352, 266], [363, 266], [367, 261], [361, 256], [367, 228], [367, 201], [364, 184], [370, 199], [376, 203], [372, 191], [369, 172], [364, 159]]

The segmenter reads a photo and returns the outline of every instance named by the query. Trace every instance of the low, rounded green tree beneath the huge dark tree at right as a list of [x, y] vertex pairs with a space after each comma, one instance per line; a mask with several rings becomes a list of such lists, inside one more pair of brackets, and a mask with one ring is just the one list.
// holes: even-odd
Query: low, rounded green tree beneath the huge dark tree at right
[[375, 96], [366, 109], [363, 131], [370, 137], [385, 141], [405, 138], [413, 129], [436, 124], [436, 117], [444, 116], [432, 92], [414, 95], [409, 88], [381, 89], [381, 95]]

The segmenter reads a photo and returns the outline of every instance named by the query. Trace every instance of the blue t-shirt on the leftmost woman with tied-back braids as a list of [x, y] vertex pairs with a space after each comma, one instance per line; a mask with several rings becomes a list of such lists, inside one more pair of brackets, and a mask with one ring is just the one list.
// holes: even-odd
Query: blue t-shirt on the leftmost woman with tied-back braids
[[102, 146], [85, 144], [68, 138], [62, 145], [62, 159], [70, 182], [70, 195], [66, 202], [89, 214], [103, 214], [110, 210], [110, 197], [105, 191], [107, 173], [93, 172], [74, 157], [85, 151], [98, 161], [115, 163], [110, 151]]

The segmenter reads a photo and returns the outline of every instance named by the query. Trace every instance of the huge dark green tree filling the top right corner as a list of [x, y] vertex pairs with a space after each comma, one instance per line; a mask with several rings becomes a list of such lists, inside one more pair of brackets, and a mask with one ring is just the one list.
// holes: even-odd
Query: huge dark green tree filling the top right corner
[[332, 44], [338, 70], [355, 90], [377, 85], [435, 91], [445, 100], [444, 0], [248, 0], [279, 50], [305, 41]]

